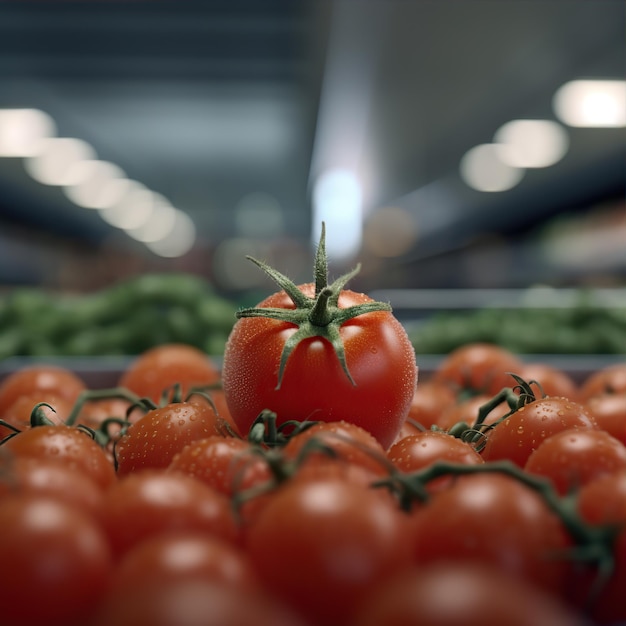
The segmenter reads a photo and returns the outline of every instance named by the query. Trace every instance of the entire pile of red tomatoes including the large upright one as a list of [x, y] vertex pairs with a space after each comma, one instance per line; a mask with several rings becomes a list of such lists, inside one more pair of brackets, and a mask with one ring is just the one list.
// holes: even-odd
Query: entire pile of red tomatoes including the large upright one
[[467, 344], [418, 382], [388, 307], [241, 311], [218, 365], [0, 383], [3, 626], [626, 622], [626, 362], [582, 382]]

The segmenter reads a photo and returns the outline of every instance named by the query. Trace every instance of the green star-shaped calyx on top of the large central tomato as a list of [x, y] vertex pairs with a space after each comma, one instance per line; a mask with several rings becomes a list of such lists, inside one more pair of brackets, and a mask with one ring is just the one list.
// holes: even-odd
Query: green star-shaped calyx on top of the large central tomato
[[251, 307], [237, 311], [237, 318], [242, 317], [267, 317], [270, 319], [288, 322], [297, 326], [298, 330], [285, 342], [280, 357], [278, 368], [278, 384], [280, 389], [287, 361], [304, 339], [321, 337], [332, 345], [341, 367], [353, 385], [356, 385], [348, 365], [343, 346], [343, 340], [339, 329], [344, 322], [371, 313], [373, 311], [391, 311], [391, 306], [384, 302], [364, 302], [347, 308], [339, 308], [339, 295], [346, 283], [359, 273], [361, 266], [357, 265], [352, 271], [337, 278], [332, 284], [328, 284], [328, 259], [326, 257], [326, 229], [322, 223], [322, 233], [315, 255], [315, 296], [310, 298], [305, 295], [296, 284], [273, 269], [266, 263], [252, 257], [247, 257], [255, 265], [260, 267], [285, 293], [291, 298], [295, 309], [282, 309], [279, 307]]

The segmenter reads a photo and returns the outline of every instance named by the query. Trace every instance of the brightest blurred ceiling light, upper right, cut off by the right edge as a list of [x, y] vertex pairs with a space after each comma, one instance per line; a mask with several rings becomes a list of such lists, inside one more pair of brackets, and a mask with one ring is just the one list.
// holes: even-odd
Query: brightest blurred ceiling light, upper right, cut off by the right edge
[[626, 81], [573, 80], [556, 92], [552, 104], [569, 126], [626, 126]]

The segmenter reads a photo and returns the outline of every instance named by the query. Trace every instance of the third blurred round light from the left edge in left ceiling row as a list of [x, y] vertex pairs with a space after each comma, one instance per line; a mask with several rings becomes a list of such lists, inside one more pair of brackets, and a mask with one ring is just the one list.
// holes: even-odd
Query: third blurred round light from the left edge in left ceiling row
[[65, 186], [65, 195], [85, 209], [106, 209], [115, 205], [130, 183], [117, 165], [94, 159], [75, 163], [68, 178], [73, 183]]

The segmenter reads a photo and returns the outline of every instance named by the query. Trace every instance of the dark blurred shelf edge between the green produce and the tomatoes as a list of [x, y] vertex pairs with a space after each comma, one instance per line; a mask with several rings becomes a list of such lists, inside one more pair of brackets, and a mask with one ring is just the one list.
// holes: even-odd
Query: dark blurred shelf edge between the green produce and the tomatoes
[[[626, 362], [626, 354], [520, 354], [519, 356], [527, 363], [541, 362], [561, 369], [578, 383], [604, 367]], [[18, 369], [51, 364], [73, 371], [92, 389], [115, 387], [121, 373], [135, 358], [135, 356], [10, 357], [0, 361], [0, 382]], [[444, 358], [445, 355], [442, 354], [418, 354], [419, 379], [428, 379]], [[221, 366], [221, 356], [213, 355], [211, 359]]]

